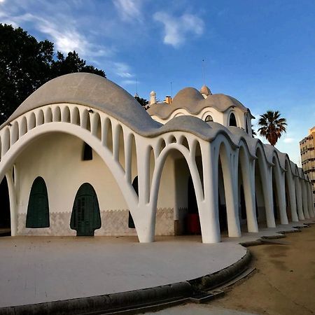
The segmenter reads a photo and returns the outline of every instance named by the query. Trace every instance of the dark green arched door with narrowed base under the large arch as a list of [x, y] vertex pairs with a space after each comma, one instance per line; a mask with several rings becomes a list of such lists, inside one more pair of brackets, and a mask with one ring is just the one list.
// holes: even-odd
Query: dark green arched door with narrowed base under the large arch
[[94, 188], [83, 183], [76, 193], [73, 203], [70, 228], [77, 236], [94, 236], [94, 230], [101, 228], [99, 202]]

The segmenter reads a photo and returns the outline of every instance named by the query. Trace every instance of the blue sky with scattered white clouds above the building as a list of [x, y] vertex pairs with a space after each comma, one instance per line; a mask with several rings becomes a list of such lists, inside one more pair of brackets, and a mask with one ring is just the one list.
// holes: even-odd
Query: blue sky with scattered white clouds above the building
[[256, 118], [278, 110], [276, 148], [300, 166], [315, 125], [314, 0], [0, 0], [0, 23], [76, 50], [133, 95], [205, 83]]

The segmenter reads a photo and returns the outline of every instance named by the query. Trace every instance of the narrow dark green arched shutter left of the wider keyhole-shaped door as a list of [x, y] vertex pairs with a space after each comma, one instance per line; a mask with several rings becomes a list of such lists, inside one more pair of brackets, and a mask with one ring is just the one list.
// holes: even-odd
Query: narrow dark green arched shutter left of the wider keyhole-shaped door
[[49, 228], [49, 204], [45, 181], [37, 177], [31, 186], [27, 207], [27, 228]]

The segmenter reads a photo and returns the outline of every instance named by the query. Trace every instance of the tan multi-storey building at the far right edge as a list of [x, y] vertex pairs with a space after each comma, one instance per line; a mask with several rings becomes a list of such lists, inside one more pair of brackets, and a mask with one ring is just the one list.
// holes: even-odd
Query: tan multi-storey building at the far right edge
[[311, 181], [315, 202], [315, 126], [309, 130], [309, 135], [300, 141], [302, 169]]

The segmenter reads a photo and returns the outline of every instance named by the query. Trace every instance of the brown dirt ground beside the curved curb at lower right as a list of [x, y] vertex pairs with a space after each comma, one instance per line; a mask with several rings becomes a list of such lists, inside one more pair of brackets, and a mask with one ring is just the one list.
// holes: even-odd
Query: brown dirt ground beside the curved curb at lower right
[[252, 276], [209, 302], [254, 314], [315, 314], [315, 225], [287, 234], [286, 244], [251, 246]]

